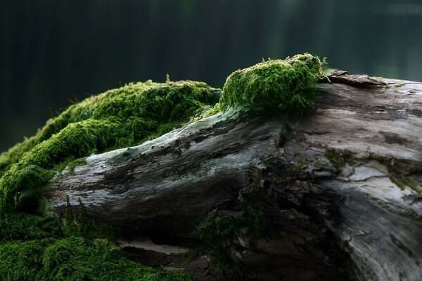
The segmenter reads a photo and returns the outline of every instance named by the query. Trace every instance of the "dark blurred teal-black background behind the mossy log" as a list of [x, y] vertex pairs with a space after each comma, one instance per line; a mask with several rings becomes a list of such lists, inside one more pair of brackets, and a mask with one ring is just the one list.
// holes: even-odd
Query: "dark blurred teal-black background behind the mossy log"
[[422, 1], [0, 0], [0, 151], [131, 81], [222, 87], [262, 58], [422, 81]]

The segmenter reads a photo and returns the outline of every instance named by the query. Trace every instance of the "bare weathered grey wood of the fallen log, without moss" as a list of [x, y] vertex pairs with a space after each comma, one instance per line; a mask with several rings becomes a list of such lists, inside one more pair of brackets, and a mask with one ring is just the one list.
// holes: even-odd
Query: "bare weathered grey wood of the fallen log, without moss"
[[[239, 237], [232, 251], [259, 280], [337, 280], [338, 268], [352, 280], [422, 280], [422, 85], [342, 81], [320, 94], [300, 119], [226, 112], [93, 155], [44, 195], [53, 211], [68, 196], [89, 216], [167, 237], [260, 202], [270, 239]], [[366, 158], [335, 168], [328, 148]], [[391, 165], [411, 187], [392, 181]]]

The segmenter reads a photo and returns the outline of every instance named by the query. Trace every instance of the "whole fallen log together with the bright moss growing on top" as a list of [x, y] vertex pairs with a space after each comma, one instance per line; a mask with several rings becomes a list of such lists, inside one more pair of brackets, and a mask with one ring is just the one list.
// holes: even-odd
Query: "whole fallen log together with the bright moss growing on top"
[[[421, 129], [420, 83], [324, 77], [309, 54], [238, 70], [223, 91], [147, 82], [89, 98], [0, 156], [0, 275], [61, 280], [82, 261], [44, 262], [41, 246], [92, 259], [110, 249], [92, 239], [105, 223], [127, 256], [199, 280], [420, 280]], [[36, 208], [53, 216], [15, 214]], [[21, 246], [38, 247], [36, 266], [11, 258]], [[104, 263], [126, 276], [120, 256]]]

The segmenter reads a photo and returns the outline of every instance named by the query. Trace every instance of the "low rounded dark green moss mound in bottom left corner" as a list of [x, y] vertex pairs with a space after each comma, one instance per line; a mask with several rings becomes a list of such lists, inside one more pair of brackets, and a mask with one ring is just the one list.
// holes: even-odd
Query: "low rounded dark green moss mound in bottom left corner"
[[14, 241], [0, 245], [1, 280], [191, 280], [129, 261], [102, 240], [82, 237]]

